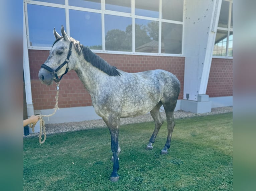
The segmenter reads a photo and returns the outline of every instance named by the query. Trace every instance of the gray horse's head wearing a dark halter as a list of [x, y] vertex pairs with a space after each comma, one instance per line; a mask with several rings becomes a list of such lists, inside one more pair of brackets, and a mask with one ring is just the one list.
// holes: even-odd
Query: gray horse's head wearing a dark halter
[[[75, 59], [70, 59], [72, 54], [72, 42], [66, 34], [63, 25], [61, 25], [60, 36], [55, 28], [53, 30], [55, 42], [49, 53], [48, 59], [41, 65], [38, 77], [40, 82], [45, 85], [51, 85], [53, 81], [59, 82], [64, 74], [72, 70], [75, 65]], [[60, 78], [58, 78], [60, 76]]]

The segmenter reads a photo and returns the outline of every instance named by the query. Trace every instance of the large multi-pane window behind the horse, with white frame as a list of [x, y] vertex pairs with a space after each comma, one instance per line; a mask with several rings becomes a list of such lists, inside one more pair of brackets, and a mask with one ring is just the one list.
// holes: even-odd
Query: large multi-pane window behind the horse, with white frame
[[53, 28], [59, 33], [63, 25], [68, 35], [95, 52], [182, 54], [183, 0], [24, 3], [29, 49], [50, 50]]

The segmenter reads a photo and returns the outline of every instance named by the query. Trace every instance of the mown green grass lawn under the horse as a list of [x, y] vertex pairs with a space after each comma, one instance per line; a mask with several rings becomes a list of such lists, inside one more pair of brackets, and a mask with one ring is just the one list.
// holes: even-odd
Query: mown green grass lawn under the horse
[[120, 127], [117, 183], [107, 128], [24, 138], [24, 190], [232, 190], [232, 113], [175, 121], [168, 155], [166, 122], [149, 151], [153, 122]]

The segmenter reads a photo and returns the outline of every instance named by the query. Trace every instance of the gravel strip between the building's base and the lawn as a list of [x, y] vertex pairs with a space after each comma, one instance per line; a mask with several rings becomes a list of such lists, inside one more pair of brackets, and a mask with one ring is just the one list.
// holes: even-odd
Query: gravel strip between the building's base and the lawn
[[[192, 113], [186, 112], [182, 110], [174, 111], [174, 118], [188, 118], [188, 117], [195, 117], [195, 116], [204, 116], [204, 115], [213, 115], [219, 113], [228, 113], [233, 111], [233, 106], [229, 107], [216, 107], [212, 108], [212, 111], [209, 113]], [[161, 116], [163, 119], [166, 119], [165, 112], [161, 112]], [[140, 123], [140, 122], [147, 122], [153, 121], [150, 113], [145, 115], [140, 115], [137, 117], [128, 117], [128, 118], [121, 118], [120, 124], [131, 124], [131, 123]], [[105, 122], [102, 119], [98, 120], [89, 120], [89, 121], [81, 121], [81, 122], [68, 122], [68, 123], [54, 123], [54, 124], [45, 124], [46, 134], [54, 134], [54, 133], [61, 133], [61, 132], [69, 132], [69, 131], [78, 131], [82, 129], [92, 129], [97, 127], [107, 127]], [[39, 133], [33, 133], [24, 137], [32, 137], [38, 136]]]

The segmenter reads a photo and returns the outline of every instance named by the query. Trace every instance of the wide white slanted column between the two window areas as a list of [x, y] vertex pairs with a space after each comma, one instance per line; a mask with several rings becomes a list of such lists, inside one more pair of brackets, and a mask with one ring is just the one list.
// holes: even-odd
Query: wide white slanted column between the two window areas
[[183, 99], [206, 94], [222, 0], [185, 0]]

